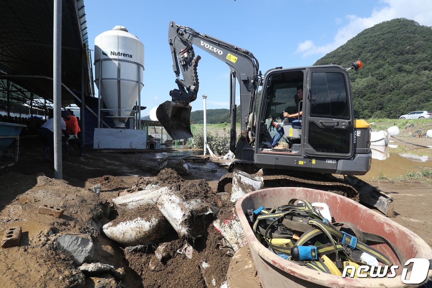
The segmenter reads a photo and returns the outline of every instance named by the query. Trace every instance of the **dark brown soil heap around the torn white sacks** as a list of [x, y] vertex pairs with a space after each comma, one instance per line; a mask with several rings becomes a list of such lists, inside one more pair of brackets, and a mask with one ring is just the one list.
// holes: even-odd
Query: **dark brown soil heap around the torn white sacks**
[[[216, 219], [224, 221], [232, 218], [234, 203], [230, 202], [226, 195], [214, 192], [206, 181], [202, 179], [184, 180], [172, 169], [162, 170], [156, 179], [146, 181], [146, 185], [168, 186], [168, 193], [171, 193], [168, 195], [172, 195], [168, 197], [170, 201], [174, 201], [176, 197], [182, 198], [185, 205], [191, 201], [202, 201], [221, 208], [221, 212], [216, 215], [205, 214], [199, 218], [191, 218], [194, 221], [186, 221], [186, 225], [191, 227], [187, 234], [178, 233], [178, 229], [172, 226], [174, 229], [170, 229], [167, 234], [151, 245], [125, 247], [124, 257], [130, 269], [142, 278], [143, 287], [219, 288], [226, 285], [226, 273], [233, 255], [228, 252], [233, 250], [227, 247], [224, 237], [213, 223]], [[139, 193], [145, 191], [147, 190]], [[161, 198], [163, 196], [159, 200]], [[118, 224], [124, 221], [135, 221], [137, 218], [151, 218], [152, 215], [160, 214], [160, 211], [163, 214], [164, 210], [161, 210], [163, 207], [159, 205], [159, 200], [158, 205], [153, 207], [143, 205], [134, 208], [111, 223]], [[160, 211], [156, 211], [158, 210], [156, 207]], [[193, 233], [195, 230], [199, 233]]]

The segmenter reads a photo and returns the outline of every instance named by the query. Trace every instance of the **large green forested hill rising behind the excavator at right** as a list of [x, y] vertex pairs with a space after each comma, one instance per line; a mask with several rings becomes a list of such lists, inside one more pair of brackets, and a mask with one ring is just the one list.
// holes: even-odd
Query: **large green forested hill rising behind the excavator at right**
[[432, 29], [393, 19], [360, 32], [314, 65], [363, 68], [349, 71], [356, 118], [395, 118], [432, 110]]

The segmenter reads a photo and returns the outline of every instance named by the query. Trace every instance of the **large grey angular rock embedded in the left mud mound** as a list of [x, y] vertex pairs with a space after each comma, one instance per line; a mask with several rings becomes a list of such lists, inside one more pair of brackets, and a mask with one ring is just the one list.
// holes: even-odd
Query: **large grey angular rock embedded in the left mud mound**
[[78, 265], [82, 265], [94, 255], [93, 241], [87, 234], [57, 234], [55, 245], [57, 249], [68, 253]]

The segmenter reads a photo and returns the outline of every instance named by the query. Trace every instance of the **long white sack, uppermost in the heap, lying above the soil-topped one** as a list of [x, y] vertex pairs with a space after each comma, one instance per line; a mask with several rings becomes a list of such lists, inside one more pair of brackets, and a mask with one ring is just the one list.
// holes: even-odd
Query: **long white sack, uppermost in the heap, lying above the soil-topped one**
[[158, 198], [165, 192], [170, 191], [167, 187], [144, 189], [129, 193], [112, 199], [112, 203], [121, 215], [125, 211], [142, 205], [156, 205]]

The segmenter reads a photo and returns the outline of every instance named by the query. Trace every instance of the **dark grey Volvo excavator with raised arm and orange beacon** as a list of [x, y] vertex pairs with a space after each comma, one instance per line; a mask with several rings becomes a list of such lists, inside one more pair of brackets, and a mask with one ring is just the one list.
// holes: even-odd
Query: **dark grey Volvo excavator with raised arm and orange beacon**
[[[372, 160], [371, 128], [366, 121], [354, 119], [348, 75], [348, 70], [362, 67], [361, 61], [348, 68], [276, 67], [262, 74], [250, 51], [173, 21], [168, 27], [168, 43], [177, 88], [169, 93], [171, 101], [159, 105], [156, 117], [173, 139], [192, 137], [190, 103], [197, 99], [200, 61], [194, 46], [230, 68], [229, 146], [235, 158], [229, 173], [219, 180], [219, 192], [241, 194], [283, 186], [321, 189], [394, 216], [393, 198], [354, 176], [367, 173]], [[236, 80], [240, 86], [240, 135], [236, 134]], [[297, 115], [297, 125], [284, 118], [284, 112]], [[285, 145], [271, 144], [277, 133]]]

